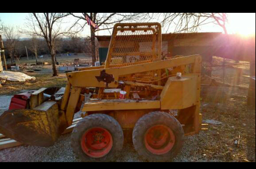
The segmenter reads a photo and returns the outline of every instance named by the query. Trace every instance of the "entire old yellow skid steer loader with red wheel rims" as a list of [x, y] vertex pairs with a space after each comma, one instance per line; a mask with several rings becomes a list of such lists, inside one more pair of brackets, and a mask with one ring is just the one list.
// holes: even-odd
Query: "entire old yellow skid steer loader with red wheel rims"
[[[67, 73], [65, 88], [21, 96], [23, 109], [0, 116], [0, 133], [49, 147], [82, 111], [71, 146], [83, 162], [115, 160], [129, 129], [139, 155], [170, 160], [183, 137], [201, 127], [201, 56], [163, 59], [161, 46], [159, 23], [117, 23], [103, 66]], [[18, 103], [14, 99], [11, 105]]]

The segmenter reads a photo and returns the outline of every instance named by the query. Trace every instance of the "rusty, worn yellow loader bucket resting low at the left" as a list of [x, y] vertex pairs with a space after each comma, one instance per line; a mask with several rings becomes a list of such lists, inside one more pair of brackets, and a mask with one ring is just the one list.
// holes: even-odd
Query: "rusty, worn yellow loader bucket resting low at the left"
[[0, 133], [23, 144], [50, 147], [67, 127], [55, 101], [34, 109], [7, 110], [0, 116]]

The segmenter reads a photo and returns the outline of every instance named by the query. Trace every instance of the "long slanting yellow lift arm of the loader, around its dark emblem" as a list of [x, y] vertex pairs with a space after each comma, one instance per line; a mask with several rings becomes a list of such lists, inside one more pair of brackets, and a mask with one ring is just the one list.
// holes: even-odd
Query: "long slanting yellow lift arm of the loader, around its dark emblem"
[[67, 73], [67, 77], [71, 85], [75, 87], [106, 87], [106, 84], [104, 82], [99, 82], [97, 78], [95, 78], [95, 76], [100, 76], [100, 72], [102, 70], [106, 70], [106, 73], [113, 75], [115, 79], [114, 82], [109, 83], [108, 86], [117, 87], [119, 76], [142, 73], [145, 71], [152, 71], [152, 70], [158, 70], [158, 69], [165, 69], [165, 68], [176, 67], [181, 65], [189, 65], [191, 63], [194, 63], [196, 58], [198, 57], [200, 56], [192, 55], [188, 57], [142, 63], [140, 65], [107, 68], [107, 69], [75, 71], [75, 72]]

